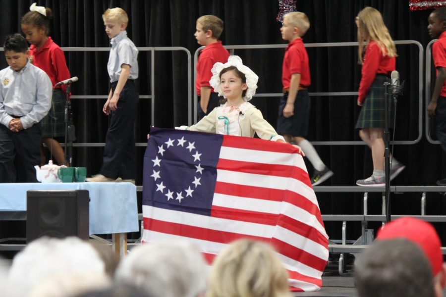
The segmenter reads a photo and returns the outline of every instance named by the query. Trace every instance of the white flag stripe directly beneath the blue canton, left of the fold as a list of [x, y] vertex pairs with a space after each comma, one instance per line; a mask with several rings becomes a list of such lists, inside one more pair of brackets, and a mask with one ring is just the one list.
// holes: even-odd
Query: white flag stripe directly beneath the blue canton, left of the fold
[[215, 218], [149, 205], [143, 205], [143, 216], [159, 221], [264, 238], [271, 238], [276, 229], [276, 226]]

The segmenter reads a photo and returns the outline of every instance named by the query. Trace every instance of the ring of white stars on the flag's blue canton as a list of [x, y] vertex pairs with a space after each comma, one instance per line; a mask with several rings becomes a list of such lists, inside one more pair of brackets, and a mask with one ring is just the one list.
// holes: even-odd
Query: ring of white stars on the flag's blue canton
[[[175, 147], [175, 141], [177, 142], [176, 147], [182, 147], [184, 149], [188, 149], [190, 155], [194, 158], [194, 162], [198, 161], [198, 165], [194, 165], [196, 168], [195, 174], [194, 174], [194, 181], [190, 183], [190, 185], [188, 186], [187, 189], [184, 189], [182, 191], [176, 192], [176, 191], [170, 191], [169, 188], [167, 188], [167, 186], [165, 186], [163, 184], [163, 182], [161, 181], [159, 184], [157, 184], [157, 180], [160, 179], [161, 180], [161, 161], [163, 160], [163, 156], [164, 156], [164, 152], [166, 151], [166, 149], [169, 149], [170, 147]], [[188, 144], [186, 146], [186, 143]], [[154, 178], [155, 180], [155, 185], [157, 186], [157, 190], [155, 192], [160, 191], [162, 194], [164, 194], [167, 197], [167, 201], [169, 201], [170, 199], [175, 199], [178, 200], [179, 203], [181, 203], [181, 200], [187, 197], [192, 198], [193, 192], [198, 188], [198, 186], [201, 186], [200, 180], [201, 180], [201, 176], [203, 174], [203, 167], [201, 167], [201, 153], [198, 152], [197, 148], [195, 148], [195, 142], [188, 142], [187, 140], [184, 139], [184, 136], [181, 137], [181, 139], [170, 139], [165, 142], [166, 144], [166, 149], [164, 148], [165, 145], [161, 145], [158, 147], [158, 153], [155, 157], [155, 159], [152, 160], [153, 162], [153, 174], [151, 175], [151, 177]], [[192, 151], [195, 150], [195, 153], [192, 154]], [[161, 159], [158, 158], [158, 155], [161, 155]], [[158, 171], [157, 171], [158, 170]], [[192, 188], [191, 188], [192, 187]], [[166, 191], [165, 191], [166, 189]], [[166, 192], [166, 193], [165, 193]], [[184, 196], [183, 196], [184, 195]]]

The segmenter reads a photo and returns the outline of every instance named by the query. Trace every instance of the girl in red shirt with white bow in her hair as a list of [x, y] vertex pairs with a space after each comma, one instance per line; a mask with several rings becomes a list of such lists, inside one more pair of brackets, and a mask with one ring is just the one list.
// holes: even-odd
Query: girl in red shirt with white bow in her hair
[[[69, 79], [70, 72], [62, 49], [48, 36], [51, 19], [53, 11], [50, 8], [36, 6], [36, 3], [33, 3], [30, 11], [22, 17], [21, 23], [26, 40], [31, 44], [29, 51], [32, 63], [48, 74], [54, 87], [57, 82]], [[50, 149], [59, 165], [64, 164], [64, 153], [54, 138], [65, 136], [64, 94], [64, 85], [54, 89], [51, 110], [41, 122], [43, 143]], [[42, 163], [45, 163], [43, 153]]]

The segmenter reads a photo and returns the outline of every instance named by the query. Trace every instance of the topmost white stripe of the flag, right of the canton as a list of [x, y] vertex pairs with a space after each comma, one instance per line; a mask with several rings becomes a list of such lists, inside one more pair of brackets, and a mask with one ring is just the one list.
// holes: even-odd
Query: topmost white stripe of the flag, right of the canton
[[220, 158], [243, 162], [296, 166], [307, 172], [303, 158], [296, 153], [222, 147], [220, 149]]

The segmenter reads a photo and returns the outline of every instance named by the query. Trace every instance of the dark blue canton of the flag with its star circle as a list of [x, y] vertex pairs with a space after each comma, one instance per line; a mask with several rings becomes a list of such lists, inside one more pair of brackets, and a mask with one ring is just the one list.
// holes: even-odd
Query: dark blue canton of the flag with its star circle
[[159, 131], [152, 128], [144, 155], [145, 204], [210, 215], [222, 136]]

